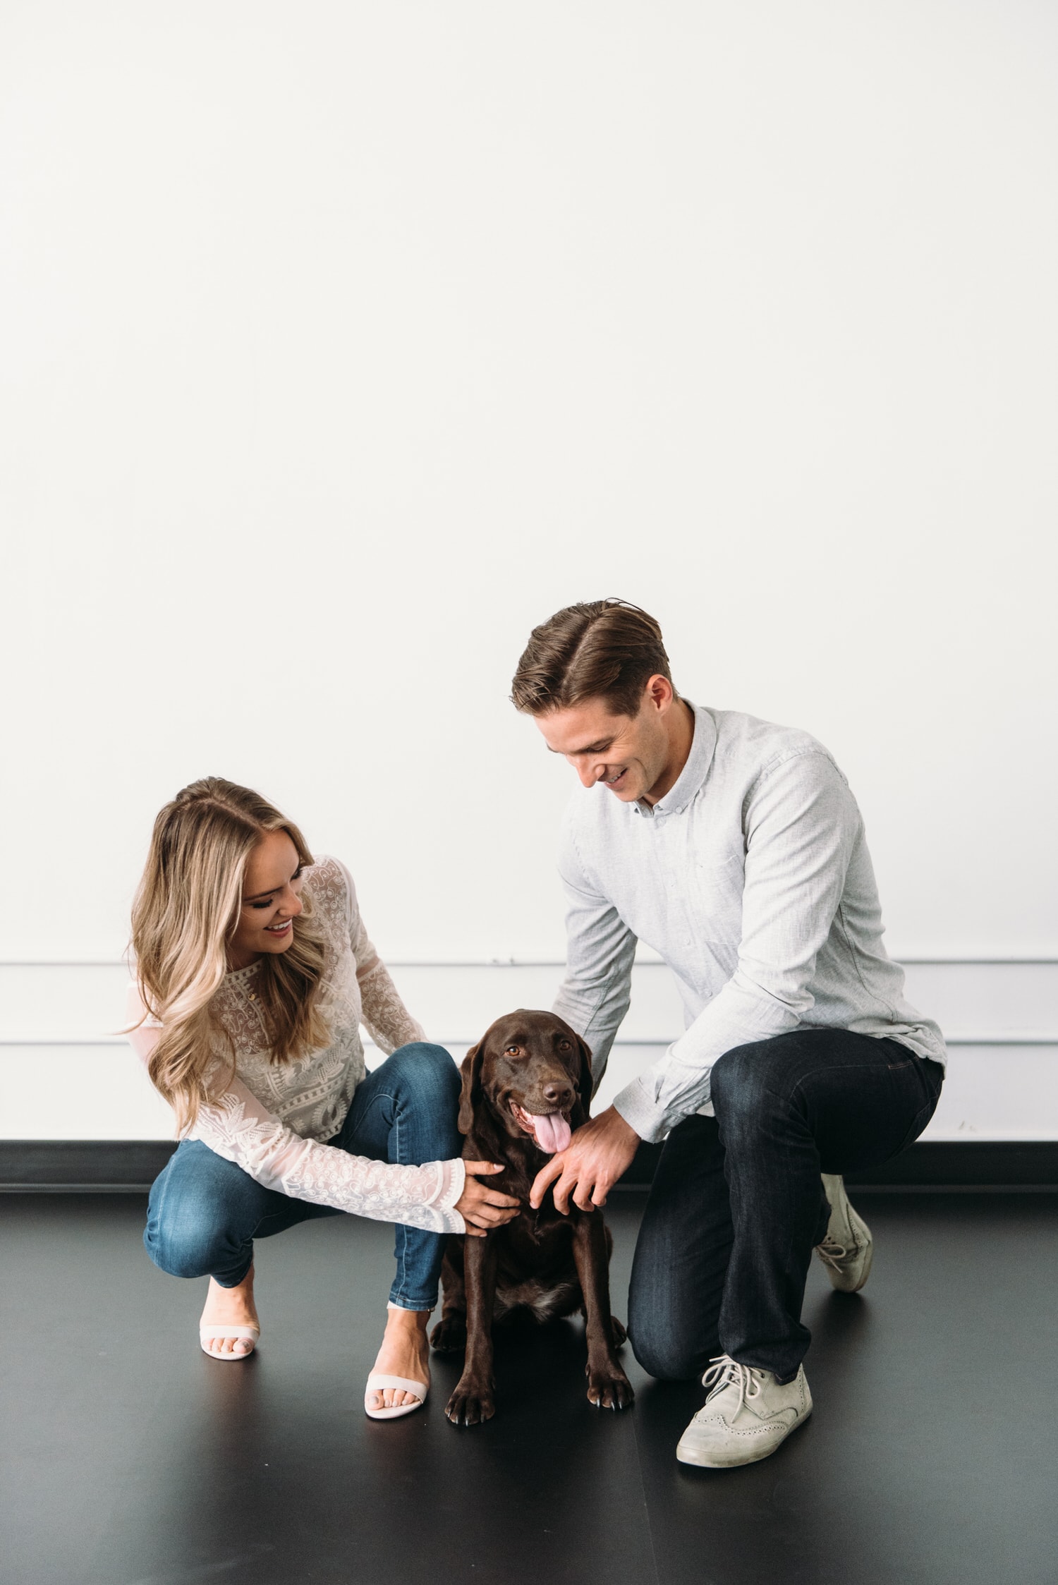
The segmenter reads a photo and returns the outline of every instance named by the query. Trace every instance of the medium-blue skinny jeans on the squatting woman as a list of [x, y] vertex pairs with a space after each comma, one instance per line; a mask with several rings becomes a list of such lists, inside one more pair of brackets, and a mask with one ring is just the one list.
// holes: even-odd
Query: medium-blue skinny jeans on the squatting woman
[[[451, 1160], [462, 1154], [458, 1108], [459, 1068], [443, 1046], [417, 1041], [401, 1046], [356, 1086], [348, 1116], [328, 1144], [374, 1162], [420, 1167]], [[341, 1214], [329, 1205], [266, 1189], [201, 1140], [184, 1140], [150, 1190], [144, 1244], [163, 1271], [209, 1274], [222, 1287], [236, 1287], [250, 1270], [255, 1238]], [[445, 1238], [398, 1225], [393, 1304], [434, 1308]]]

